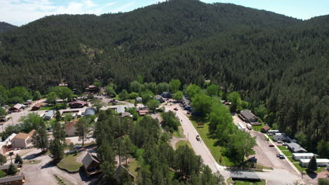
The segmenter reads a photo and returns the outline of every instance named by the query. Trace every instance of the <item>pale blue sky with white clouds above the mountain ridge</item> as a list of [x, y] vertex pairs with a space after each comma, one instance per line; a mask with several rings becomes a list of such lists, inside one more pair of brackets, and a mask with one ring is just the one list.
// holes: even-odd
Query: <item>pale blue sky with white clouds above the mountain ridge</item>
[[[164, 0], [160, 0], [164, 1]], [[299, 19], [329, 14], [329, 0], [201, 0], [232, 3], [273, 11]], [[155, 4], [159, 0], [0, 0], [0, 21], [25, 25], [46, 15], [117, 13]]]

